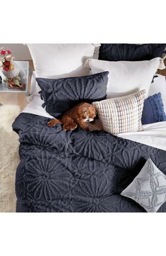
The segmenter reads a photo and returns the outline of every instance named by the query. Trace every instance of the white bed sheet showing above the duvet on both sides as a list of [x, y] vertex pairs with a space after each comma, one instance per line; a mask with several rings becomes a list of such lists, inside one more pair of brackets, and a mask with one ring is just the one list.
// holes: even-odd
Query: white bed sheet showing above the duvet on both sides
[[[53, 118], [53, 116], [50, 116], [49, 113], [45, 111], [45, 108], [42, 108], [43, 102], [44, 101], [40, 99], [40, 96], [35, 95], [30, 104], [23, 109], [23, 112]], [[161, 150], [166, 150], [166, 121], [145, 125], [141, 132], [121, 133], [118, 136], [155, 148], [160, 148]]]

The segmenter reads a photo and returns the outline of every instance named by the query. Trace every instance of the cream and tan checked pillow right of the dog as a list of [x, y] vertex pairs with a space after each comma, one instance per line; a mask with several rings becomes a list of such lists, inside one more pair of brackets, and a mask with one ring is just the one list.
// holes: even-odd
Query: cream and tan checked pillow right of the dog
[[113, 134], [142, 130], [141, 116], [145, 93], [142, 90], [128, 96], [93, 102], [102, 128]]

